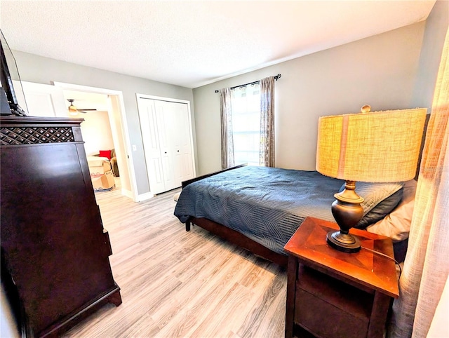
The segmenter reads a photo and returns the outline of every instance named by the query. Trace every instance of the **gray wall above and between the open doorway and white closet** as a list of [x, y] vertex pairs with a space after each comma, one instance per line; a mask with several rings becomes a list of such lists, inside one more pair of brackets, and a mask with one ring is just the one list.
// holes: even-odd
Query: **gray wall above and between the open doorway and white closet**
[[[150, 81], [101, 69], [75, 65], [73, 63], [43, 58], [38, 55], [13, 51], [22, 81], [51, 84], [52, 81], [78, 84], [112, 90], [121, 90], [126, 109], [130, 144], [137, 146], [133, 151], [133, 165], [138, 194], [149, 192], [147, 167], [140, 133], [136, 93], [189, 100], [193, 111], [192, 89], [167, 83]], [[192, 114], [194, 126], [194, 114]], [[193, 127], [194, 128], [194, 127]]]

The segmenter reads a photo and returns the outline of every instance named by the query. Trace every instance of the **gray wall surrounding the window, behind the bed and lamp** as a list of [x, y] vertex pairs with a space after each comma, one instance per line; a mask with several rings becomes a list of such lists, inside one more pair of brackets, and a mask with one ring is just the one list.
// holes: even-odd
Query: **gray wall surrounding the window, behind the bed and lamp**
[[319, 116], [413, 106], [425, 22], [194, 89], [199, 174], [219, 170], [215, 89], [282, 74], [276, 82], [276, 167], [314, 170]]

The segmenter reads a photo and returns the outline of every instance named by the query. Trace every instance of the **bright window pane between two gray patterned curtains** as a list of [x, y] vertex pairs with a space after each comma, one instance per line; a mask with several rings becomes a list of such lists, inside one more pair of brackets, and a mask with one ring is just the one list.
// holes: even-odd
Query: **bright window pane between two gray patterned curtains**
[[234, 163], [260, 165], [260, 83], [231, 90]]

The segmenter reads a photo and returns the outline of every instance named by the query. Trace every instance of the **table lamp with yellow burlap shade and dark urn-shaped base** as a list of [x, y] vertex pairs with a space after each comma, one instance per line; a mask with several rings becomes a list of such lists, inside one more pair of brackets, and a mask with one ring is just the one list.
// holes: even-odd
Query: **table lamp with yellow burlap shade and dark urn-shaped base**
[[360, 250], [358, 238], [349, 234], [363, 217], [356, 181], [402, 182], [415, 177], [426, 113], [427, 109], [370, 112], [366, 105], [358, 114], [320, 117], [316, 170], [346, 181], [331, 207], [340, 227], [326, 236], [331, 247]]

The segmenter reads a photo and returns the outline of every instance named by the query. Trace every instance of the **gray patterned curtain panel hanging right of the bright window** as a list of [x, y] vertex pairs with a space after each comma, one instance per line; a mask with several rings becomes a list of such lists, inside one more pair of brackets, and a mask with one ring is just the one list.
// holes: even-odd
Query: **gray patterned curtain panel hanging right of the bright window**
[[260, 80], [259, 164], [274, 167], [274, 76]]

